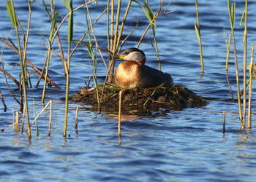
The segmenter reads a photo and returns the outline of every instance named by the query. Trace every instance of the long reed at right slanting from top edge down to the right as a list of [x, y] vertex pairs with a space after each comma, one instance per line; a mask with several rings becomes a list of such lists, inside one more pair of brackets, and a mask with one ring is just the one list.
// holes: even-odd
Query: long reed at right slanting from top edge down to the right
[[236, 66], [236, 90], [237, 90], [237, 98], [238, 98], [238, 110], [239, 110], [239, 119], [241, 122], [241, 128], [243, 128], [242, 121], [242, 109], [241, 109], [241, 93], [240, 93], [240, 85], [239, 85], [239, 73], [238, 73], [238, 60], [236, 55], [236, 39], [234, 33], [234, 25], [236, 20], [236, 4], [232, 3], [230, 6], [230, 0], [227, 0], [227, 9], [230, 17], [230, 28], [231, 28], [231, 36], [233, 41], [233, 49], [234, 49], [234, 58], [235, 58], [235, 66]]

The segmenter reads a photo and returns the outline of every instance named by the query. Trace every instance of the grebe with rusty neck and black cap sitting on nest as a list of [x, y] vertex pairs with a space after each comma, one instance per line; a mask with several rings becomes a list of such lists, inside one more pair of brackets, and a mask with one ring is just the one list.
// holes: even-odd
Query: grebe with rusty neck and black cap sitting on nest
[[116, 68], [114, 82], [121, 88], [168, 87], [173, 83], [170, 74], [145, 65], [146, 55], [142, 50], [129, 48], [116, 56], [125, 60]]

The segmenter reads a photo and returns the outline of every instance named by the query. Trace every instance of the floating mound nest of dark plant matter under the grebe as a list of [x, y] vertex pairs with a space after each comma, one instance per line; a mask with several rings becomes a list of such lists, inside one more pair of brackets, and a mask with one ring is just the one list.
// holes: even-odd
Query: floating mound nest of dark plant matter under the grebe
[[[97, 88], [82, 88], [80, 92], [72, 95], [72, 101], [82, 102], [99, 108], [98, 100], [102, 95], [103, 84]], [[105, 84], [102, 95], [102, 111], [118, 111], [120, 88], [113, 84]], [[154, 87], [144, 89], [124, 90], [122, 99], [122, 112], [135, 114], [137, 112], [176, 110], [183, 108], [198, 108], [206, 105], [206, 100], [181, 85], [170, 87]]]

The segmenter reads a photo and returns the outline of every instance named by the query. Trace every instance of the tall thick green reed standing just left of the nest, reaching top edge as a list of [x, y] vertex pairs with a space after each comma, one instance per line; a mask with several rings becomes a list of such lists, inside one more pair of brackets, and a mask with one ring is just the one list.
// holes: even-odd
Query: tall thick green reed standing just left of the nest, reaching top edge
[[67, 32], [67, 66], [66, 67], [66, 98], [65, 98], [65, 116], [64, 116], [64, 132], [63, 136], [67, 136], [67, 115], [69, 108], [69, 68], [70, 68], [70, 50], [71, 50], [71, 41], [73, 35], [73, 12], [72, 12], [72, 0], [68, 3], [67, 0], [64, 0], [64, 3], [69, 10], [69, 23], [68, 23], [68, 32]]

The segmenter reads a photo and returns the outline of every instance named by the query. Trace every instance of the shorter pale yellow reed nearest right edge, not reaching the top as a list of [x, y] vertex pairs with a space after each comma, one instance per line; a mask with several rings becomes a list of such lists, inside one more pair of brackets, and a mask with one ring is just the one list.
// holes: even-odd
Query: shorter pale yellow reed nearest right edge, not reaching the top
[[255, 50], [255, 44], [252, 43], [251, 61], [249, 64], [249, 100], [248, 100], [248, 130], [252, 128], [252, 66], [253, 66], [253, 54]]

